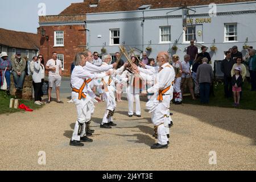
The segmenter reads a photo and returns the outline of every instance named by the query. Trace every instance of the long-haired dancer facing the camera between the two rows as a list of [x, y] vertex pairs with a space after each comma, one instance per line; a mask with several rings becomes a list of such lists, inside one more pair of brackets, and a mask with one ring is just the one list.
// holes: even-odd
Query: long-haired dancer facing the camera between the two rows
[[[133, 63], [135, 63], [135, 60], [135, 56], [131, 56], [131, 61], [133, 61]], [[123, 72], [122, 78], [123, 80], [127, 80], [126, 94], [129, 107], [128, 115], [129, 117], [133, 117], [134, 115], [135, 100], [135, 114], [137, 117], [141, 117], [141, 101], [139, 99], [139, 93], [142, 86], [142, 80], [128, 70]]]

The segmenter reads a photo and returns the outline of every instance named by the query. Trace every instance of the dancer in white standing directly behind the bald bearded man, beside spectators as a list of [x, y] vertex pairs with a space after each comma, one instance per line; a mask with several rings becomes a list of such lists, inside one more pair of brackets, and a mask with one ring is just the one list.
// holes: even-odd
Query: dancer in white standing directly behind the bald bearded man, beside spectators
[[174, 103], [176, 105], [182, 104], [182, 93], [180, 89], [181, 85], [181, 73], [182, 73], [182, 65], [179, 61], [178, 55], [172, 56], [172, 66], [175, 70], [175, 81], [174, 81]]

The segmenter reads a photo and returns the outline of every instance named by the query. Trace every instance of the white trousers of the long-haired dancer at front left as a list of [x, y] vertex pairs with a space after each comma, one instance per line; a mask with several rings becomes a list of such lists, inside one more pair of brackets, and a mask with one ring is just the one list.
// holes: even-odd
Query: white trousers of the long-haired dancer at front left
[[[85, 123], [90, 121], [93, 104], [90, 96], [87, 96], [86, 99], [82, 98], [81, 100], [78, 99], [79, 94], [72, 92], [72, 100], [76, 105], [77, 111], [77, 121], [75, 125], [75, 129], [72, 135], [72, 140], [80, 141], [80, 137], [86, 136], [85, 133]], [[82, 123], [83, 131], [81, 135], [78, 135], [79, 132], [79, 123]]]

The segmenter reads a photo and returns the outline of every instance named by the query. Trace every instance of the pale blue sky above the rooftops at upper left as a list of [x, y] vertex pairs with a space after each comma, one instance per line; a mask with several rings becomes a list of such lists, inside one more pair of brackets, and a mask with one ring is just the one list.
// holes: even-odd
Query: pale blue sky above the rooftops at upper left
[[[0, 28], [36, 33], [38, 13], [57, 15], [76, 2], [84, 0], [0, 0], [0, 7], [5, 7], [0, 11]], [[46, 11], [43, 11], [44, 5]]]

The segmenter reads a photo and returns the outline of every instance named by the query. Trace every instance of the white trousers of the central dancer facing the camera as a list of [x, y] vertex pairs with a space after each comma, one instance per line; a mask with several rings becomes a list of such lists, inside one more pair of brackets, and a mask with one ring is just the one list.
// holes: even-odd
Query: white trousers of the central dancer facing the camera
[[129, 105], [129, 115], [133, 115], [134, 111], [134, 100], [136, 104], [136, 115], [141, 115], [141, 101], [139, 100], [139, 88], [134, 88], [134, 86], [128, 86], [126, 89], [127, 93], [127, 100], [128, 100], [128, 105]]

